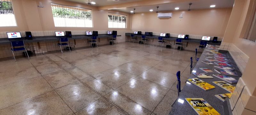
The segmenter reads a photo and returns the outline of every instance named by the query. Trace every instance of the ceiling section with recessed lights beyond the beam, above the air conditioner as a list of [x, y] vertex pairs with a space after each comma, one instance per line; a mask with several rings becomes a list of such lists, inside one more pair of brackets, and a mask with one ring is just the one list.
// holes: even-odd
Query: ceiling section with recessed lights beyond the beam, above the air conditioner
[[156, 4], [148, 6], [130, 7], [116, 9], [117, 11], [130, 12], [133, 8], [136, 8], [135, 13], [150, 12], [153, 9], [156, 12], [156, 6], [159, 6], [158, 11], [172, 11], [174, 8], [179, 7], [179, 10], [187, 10], [189, 8], [189, 3], [192, 3], [190, 9], [210, 9], [210, 5], [216, 5], [214, 8], [232, 8], [235, 0], [198, 0], [193, 2], [181, 2], [181, 3], [166, 3], [166, 4]]

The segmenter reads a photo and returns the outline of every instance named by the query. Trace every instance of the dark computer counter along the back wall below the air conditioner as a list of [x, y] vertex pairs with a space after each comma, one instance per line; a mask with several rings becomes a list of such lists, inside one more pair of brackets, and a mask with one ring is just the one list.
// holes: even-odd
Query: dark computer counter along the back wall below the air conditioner
[[[131, 34], [133, 34], [133, 33], [125, 33], [126, 36], [131, 36]], [[141, 35], [144, 35], [144, 34], [141, 34]], [[135, 37], [141, 37], [141, 35], [135, 35], [134, 34]], [[158, 40], [158, 37], [161, 37], [161, 36], [157, 36], [157, 35], [146, 36], [146, 38], [153, 39], [152, 42], [154, 42], [154, 39]], [[170, 38], [163, 37], [163, 39], [164, 40], [173, 40], [174, 44], [175, 44], [175, 41], [176, 41], [176, 39], [178, 39], [178, 37], [170, 37]], [[182, 40], [183, 43], [187, 42], [186, 47], [188, 46], [188, 42], [200, 43], [200, 41], [202, 41], [202, 40], [200, 40], [200, 39], [191, 39], [191, 38], [189, 38], [188, 40]], [[219, 45], [220, 46], [221, 41], [217, 41], [217, 43], [213, 43], [212, 40], [210, 40], [210, 41], [208, 41], [208, 44], [210, 44], [210, 45]]]

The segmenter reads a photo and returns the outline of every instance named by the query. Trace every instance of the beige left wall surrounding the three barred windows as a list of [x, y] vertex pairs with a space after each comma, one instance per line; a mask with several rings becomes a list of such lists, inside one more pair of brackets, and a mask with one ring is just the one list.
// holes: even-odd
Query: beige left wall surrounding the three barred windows
[[[39, 1], [44, 8], [37, 7]], [[92, 9], [93, 27], [55, 27], [51, 3]], [[131, 14], [112, 10], [98, 10], [98, 7], [68, 2], [64, 0], [12, 0], [16, 27], [0, 27], [7, 31], [58, 31], [58, 30], [131, 30]], [[108, 28], [108, 12], [127, 15], [127, 28]]]

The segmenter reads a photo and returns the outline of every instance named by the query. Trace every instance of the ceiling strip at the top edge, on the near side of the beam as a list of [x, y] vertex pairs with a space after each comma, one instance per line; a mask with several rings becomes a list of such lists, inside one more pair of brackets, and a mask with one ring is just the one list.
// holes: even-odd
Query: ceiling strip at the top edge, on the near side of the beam
[[[71, 2], [77, 2], [82, 4], [87, 4], [88, 0], [67, 0]], [[93, 6], [105, 6], [105, 5], [112, 5], [112, 4], [120, 4], [120, 3], [127, 3], [127, 2], [134, 2], [140, 0], [90, 0], [91, 2], [95, 2], [96, 4], [92, 4]]]

